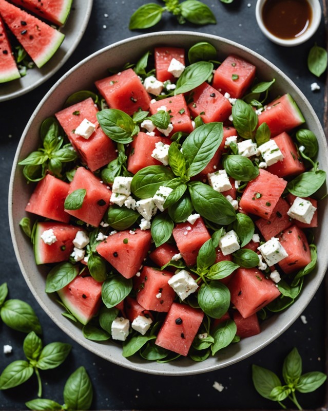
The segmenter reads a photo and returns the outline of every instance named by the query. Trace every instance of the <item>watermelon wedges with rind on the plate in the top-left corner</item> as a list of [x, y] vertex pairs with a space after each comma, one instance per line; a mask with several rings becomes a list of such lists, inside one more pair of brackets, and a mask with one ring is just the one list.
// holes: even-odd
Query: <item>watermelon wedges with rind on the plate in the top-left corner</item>
[[0, 83], [19, 79], [28, 68], [41, 68], [51, 59], [64, 41], [57, 27], [65, 24], [72, 0], [11, 3], [0, 0]]

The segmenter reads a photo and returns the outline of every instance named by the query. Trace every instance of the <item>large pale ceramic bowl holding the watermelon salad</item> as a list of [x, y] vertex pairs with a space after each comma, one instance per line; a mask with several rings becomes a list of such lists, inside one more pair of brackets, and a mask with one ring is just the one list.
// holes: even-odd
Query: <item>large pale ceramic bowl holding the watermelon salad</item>
[[275, 315], [271, 319], [264, 321], [260, 334], [246, 338], [238, 344], [230, 345], [222, 350], [222, 352], [219, 352], [219, 355], [216, 357], [209, 358], [204, 362], [193, 362], [183, 358], [176, 362], [159, 364], [156, 362], [147, 362], [139, 357], [126, 359], [122, 357], [121, 348], [111, 342], [97, 343], [86, 340], [83, 337], [81, 329], [62, 316], [63, 308], [55, 302], [56, 296], [45, 293], [47, 269], [35, 265], [30, 241], [18, 226], [18, 222], [26, 215], [24, 208], [33, 190], [33, 184], [26, 184], [22, 167], [17, 166], [17, 162], [38, 147], [40, 142], [39, 129], [43, 119], [52, 116], [55, 111], [60, 110], [66, 98], [73, 92], [90, 89], [93, 87], [95, 80], [108, 75], [107, 68], [109, 65], [112, 67], [120, 67], [123, 66], [126, 61], [137, 61], [147, 50], [152, 49], [156, 45], [189, 48], [191, 45], [200, 41], [207, 41], [213, 44], [218, 50], [219, 60], [228, 53], [236, 53], [240, 55], [240, 57], [255, 64], [257, 67], [257, 76], [260, 79], [271, 80], [275, 78], [276, 82], [273, 91], [276, 95], [290, 92], [306, 119], [307, 127], [313, 130], [319, 140], [320, 151], [318, 159], [320, 161], [320, 167], [321, 169], [327, 170], [328, 151], [320, 121], [302, 92], [283, 72], [259, 54], [229, 40], [209, 34], [168, 31], [165, 33], [140, 35], [115, 43], [92, 54], [68, 71], [65, 76], [49, 90], [27, 124], [17, 148], [10, 181], [9, 218], [12, 241], [25, 281], [37, 302], [50, 318], [73, 340], [98, 356], [130, 369], [159, 375], [190, 375], [234, 364], [274, 341], [299, 317], [317, 291], [328, 264], [328, 253], [326, 252], [328, 235], [327, 231], [322, 229], [328, 225], [328, 209], [325, 208], [326, 200], [323, 200], [319, 206], [321, 223], [320, 227], [316, 230], [319, 255], [317, 268], [312, 274], [306, 277], [302, 293], [295, 304], [279, 315]]

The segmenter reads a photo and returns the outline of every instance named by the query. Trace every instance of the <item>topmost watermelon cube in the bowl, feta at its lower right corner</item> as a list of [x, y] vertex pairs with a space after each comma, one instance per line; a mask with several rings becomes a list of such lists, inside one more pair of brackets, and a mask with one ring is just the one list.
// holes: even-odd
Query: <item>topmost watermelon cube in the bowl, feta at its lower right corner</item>
[[157, 80], [175, 82], [175, 77], [167, 69], [172, 59], [176, 59], [185, 65], [184, 49], [178, 47], [155, 47], [154, 57]]

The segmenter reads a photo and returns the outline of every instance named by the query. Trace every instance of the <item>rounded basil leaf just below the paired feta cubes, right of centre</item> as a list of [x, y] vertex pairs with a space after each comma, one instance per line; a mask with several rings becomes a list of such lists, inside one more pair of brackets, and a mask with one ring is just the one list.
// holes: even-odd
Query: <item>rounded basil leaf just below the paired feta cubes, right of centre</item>
[[239, 154], [226, 156], [223, 167], [230, 177], [235, 180], [251, 181], [259, 175], [259, 169], [247, 157]]

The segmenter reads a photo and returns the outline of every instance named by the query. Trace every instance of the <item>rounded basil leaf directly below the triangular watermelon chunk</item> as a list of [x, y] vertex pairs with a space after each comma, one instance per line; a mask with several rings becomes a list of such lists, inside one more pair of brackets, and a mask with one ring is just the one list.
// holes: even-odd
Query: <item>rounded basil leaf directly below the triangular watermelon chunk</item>
[[103, 303], [107, 308], [112, 308], [121, 303], [132, 290], [132, 279], [124, 278], [121, 274], [107, 278], [101, 290]]

